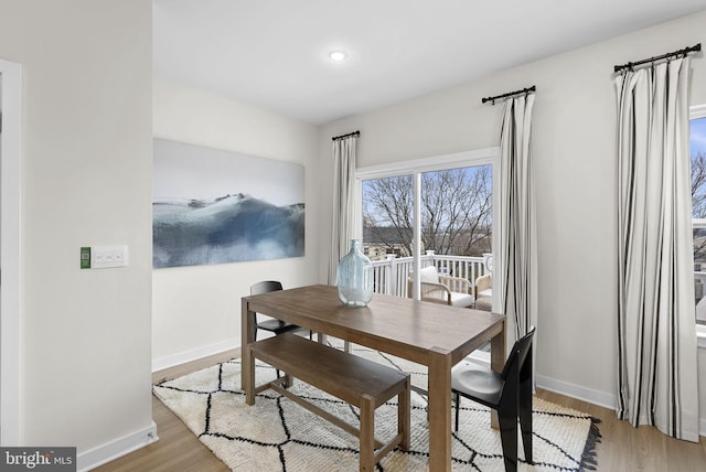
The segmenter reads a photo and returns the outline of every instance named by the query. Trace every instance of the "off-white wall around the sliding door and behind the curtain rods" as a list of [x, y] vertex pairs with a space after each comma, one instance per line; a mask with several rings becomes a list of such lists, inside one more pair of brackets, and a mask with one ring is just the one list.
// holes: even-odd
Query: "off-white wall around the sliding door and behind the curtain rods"
[[[545, 386], [612, 405], [618, 297], [613, 65], [696, 44], [704, 31], [706, 12], [332, 122], [321, 129], [321, 171], [332, 172], [330, 138], [356, 129], [361, 167], [498, 146], [502, 105], [482, 105], [481, 98], [536, 85], [537, 375]], [[704, 104], [706, 58], [696, 56], [693, 69], [692, 104]], [[330, 227], [331, 218], [332, 189], [325, 182], [322, 228]], [[322, 280], [325, 267], [320, 260]], [[700, 371], [706, 417], [703, 363]]]

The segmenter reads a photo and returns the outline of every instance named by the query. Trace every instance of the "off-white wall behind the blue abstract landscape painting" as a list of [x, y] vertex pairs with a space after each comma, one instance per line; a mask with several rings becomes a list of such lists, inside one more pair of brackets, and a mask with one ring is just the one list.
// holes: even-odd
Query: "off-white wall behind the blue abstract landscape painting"
[[[306, 167], [304, 257], [157, 269], [152, 276], [153, 368], [240, 345], [240, 298], [258, 280], [317, 281], [320, 202], [317, 127], [154, 78], [154, 136]], [[263, 176], [266, 179], [266, 176]]]

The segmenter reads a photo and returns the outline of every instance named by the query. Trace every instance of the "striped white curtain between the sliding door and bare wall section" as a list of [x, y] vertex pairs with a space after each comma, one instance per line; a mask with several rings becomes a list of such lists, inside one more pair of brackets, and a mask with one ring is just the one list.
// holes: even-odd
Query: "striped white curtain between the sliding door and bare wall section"
[[[515, 340], [537, 324], [537, 239], [531, 130], [534, 95], [505, 101], [500, 135], [499, 255], [493, 290]], [[512, 330], [511, 330], [512, 332]], [[509, 344], [515, 340], [507, 340]]]

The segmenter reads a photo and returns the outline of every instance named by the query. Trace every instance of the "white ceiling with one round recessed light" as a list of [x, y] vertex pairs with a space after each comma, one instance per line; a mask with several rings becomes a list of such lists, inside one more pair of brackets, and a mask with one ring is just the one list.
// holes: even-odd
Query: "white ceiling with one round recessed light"
[[[321, 125], [705, 10], [706, 0], [153, 0], [153, 7], [158, 75]], [[332, 50], [347, 58], [332, 62]], [[655, 54], [664, 52], [655, 45]]]

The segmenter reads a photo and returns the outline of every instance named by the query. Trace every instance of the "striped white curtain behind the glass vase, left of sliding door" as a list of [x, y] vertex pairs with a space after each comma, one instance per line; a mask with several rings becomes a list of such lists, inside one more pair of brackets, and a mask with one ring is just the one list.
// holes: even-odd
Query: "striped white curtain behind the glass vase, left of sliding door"
[[333, 227], [329, 257], [329, 285], [335, 285], [339, 260], [349, 251], [351, 239], [357, 236], [360, 204], [355, 199], [355, 155], [357, 135], [333, 140]]

